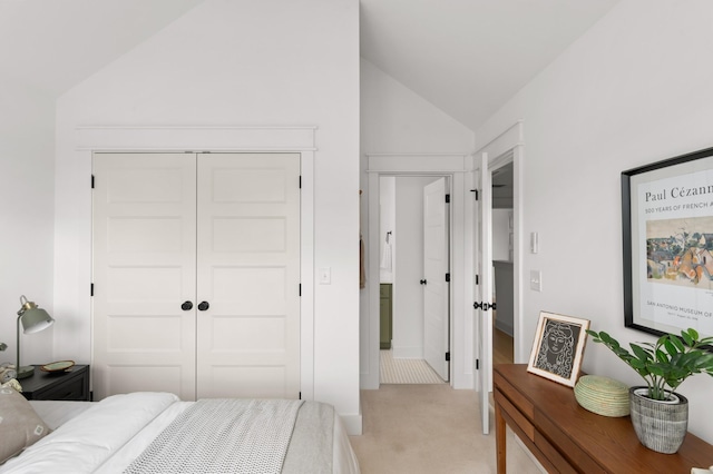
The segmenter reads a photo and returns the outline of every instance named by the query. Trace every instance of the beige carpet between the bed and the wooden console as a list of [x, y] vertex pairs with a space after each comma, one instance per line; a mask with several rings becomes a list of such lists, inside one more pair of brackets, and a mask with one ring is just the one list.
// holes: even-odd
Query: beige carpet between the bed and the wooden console
[[[362, 474], [496, 472], [495, 428], [482, 435], [472, 391], [448, 384], [382, 385], [362, 391], [361, 406], [363, 434], [350, 440]], [[511, 433], [507, 472], [541, 472]]]

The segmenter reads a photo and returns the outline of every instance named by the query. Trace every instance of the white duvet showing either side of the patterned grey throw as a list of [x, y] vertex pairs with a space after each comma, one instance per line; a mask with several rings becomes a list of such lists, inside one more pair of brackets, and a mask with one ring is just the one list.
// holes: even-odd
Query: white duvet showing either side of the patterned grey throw
[[[86, 404], [79, 403], [81, 407], [70, 407], [78, 413], [75, 417], [27, 448], [20, 456], [9, 460], [0, 466], [0, 473], [120, 473], [191, 403], [180, 402], [175, 395], [166, 393], [115, 395], [99, 403], [91, 403], [88, 408]], [[307, 407], [305, 413], [312, 411], [322, 418], [333, 413], [329, 405], [309, 402], [304, 405]], [[57, 412], [51, 414], [50, 405], [41, 408], [36, 404], [33, 406], [40, 416], [53, 417], [55, 422], [48, 423], [50, 427], [61, 423], [62, 415]], [[324, 407], [329, 407], [329, 411]], [[314, 421], [305, 418], [303, 422], [299, 419], [299, 423], [302, 424], [295, 425], [285, 470], [310, 474], [359, 473], [356, 457], [339, 415], [334, 414], [333, 423], [330, 423], [331, 453], [310, 453], [310, 446], [318, 443], [305, 440], [310, 436], [316, 440], [324, 434], [316, 431]], [[299, 452], [296, 447], [292, 448], [292, 444], [299, 446]], [[314, 464], [315, 460], [325, 457], [331, 457], [329, 463]], [[310, 467], [306, 467], [306, 462]], [[328, 464], [331, 464], [331, 470], [324, 467]]]

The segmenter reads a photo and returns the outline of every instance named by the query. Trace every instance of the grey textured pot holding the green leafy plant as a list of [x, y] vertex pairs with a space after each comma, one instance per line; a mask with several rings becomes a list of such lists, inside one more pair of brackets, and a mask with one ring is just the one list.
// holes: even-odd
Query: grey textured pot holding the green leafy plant
[[632, 424], [638, 441], [658, 453], [677, 452], [688, 429], [688, 399], [673, 393], [677, 403], [660, 402], [638, 395], [642, 391], [647, 393], [648, 388], [629, 388]]

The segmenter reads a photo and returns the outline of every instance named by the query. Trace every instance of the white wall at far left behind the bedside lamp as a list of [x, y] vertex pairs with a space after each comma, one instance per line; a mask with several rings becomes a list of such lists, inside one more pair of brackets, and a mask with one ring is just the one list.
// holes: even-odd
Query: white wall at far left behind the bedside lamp
[[[52, 306], [55, 102], [0, 78], [0, 363], [16, 363], [17, 312], [27, 296], [66, 324]], [[55, 359], [50, 327], [21, 335], [21, 363]]]

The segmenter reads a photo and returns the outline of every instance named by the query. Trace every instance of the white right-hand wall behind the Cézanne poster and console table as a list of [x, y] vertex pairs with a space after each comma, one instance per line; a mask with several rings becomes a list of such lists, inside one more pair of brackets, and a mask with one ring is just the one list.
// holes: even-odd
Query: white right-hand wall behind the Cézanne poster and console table
[[[477, 130], [488, 142], [525, 124], [524, 274], [543, 271], [543, 293], [525, 290], [525, 362], [540, 309], [592, 320], [623, 344], [653, 340], [624, 327], [619, 177], [623, 170], [713, 145], [713, 2], [624, 0]], [[576, 259], [573, 256], [588, 256]], [[527, 282], [521, 282], [529, 288]], [[600, 345], [584, 369], [641, 379]], [[681, 386], [694, 434], [713, 442], [713, 381]]]

